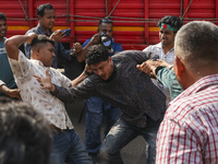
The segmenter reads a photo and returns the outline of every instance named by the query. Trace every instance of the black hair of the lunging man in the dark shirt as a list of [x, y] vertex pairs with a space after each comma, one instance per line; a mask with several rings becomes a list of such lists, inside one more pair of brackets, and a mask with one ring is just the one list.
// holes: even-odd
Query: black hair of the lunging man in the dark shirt
[[88, 47], [85, 54], [85, 62], [88, 66], [90, 66], [90, 65], [99, 63], [101, 61], [106, 61], [108, 60], [108, 57], [109, 57], [108, 49], [105, 46], [98, 44], [98, 45]]

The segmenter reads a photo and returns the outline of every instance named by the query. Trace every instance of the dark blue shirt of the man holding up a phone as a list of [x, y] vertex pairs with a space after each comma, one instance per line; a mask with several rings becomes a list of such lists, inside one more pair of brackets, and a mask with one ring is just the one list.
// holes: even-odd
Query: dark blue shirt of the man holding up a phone
[[[41, 34], [41, 35], [47, 35], [47, 33], [39, 26], [39, 24], [27, 31], [25, 35], [29, 34], [29, 33], [36, 33], [36, 34]], [[53, 32], [50, 30], [50, 35], [52, 34]], [[47, 36], [50, 36], [50, 35], [47, 35]], [[24, 49], [25, 49], [25, 55], [28, 59], [31, 59], [31, 45], [28, 45], [27, 43], [24, 43]], [[53, 61], [52, 61], [52, 65], [51, 67], [52, 68], [57, 68], [58, 67], [58, 58], [61, 57], [61, 58], [64, 58], [66, 60], [71, 60], [71, 49], [66, 50], [63, 45], [61, 44], [61, 42], [58, 42], [55, 44], [55, 54], [56, 54], [56, 57], [53, 58]]]

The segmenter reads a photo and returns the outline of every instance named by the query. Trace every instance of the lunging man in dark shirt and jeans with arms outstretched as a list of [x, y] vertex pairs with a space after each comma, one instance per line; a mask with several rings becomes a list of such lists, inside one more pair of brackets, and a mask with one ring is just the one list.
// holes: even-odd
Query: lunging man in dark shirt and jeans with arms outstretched
[[120, 151], [137, 136], [148, 143], [147, 163], [155, 163], [156, 136], [166, 112], [166, 96], [150, 78], [136, 66], [157, 59], [153, 52], [125, 50], [112, 57], [102, 45], [94, 45], [86, 52], [86, 63], [93, 74], [76, 86], [65, 89], [38, 78], [43, 89], [64, 102], [75, 102], [98, 95], [122, 112], [100, 148], [100, 156], [110, 164], [123, 164]]

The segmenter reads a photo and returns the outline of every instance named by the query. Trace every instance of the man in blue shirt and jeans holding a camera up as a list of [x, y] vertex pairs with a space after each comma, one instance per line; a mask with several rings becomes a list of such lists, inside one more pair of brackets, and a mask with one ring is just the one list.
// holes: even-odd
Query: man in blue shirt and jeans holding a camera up
[[[97, 34], [92, 38], [88, 38], [83, 44], [82, 52], [85, 54], [88, 47], [92, 45], [99, 44], [100, 34], [107, 34], [110, 38], [112, 38], [112, 21], [109, 19], [102, 19], [98, 23]], [[113, 56], [114, 54], [122, 51], [122, 46], [119, 43], [113, 42], [112, 47], [108, 49], [109, 56]], [[84, 56], [84, 55], [80, 55]], [[93, 96], [86, 99], [87, 110], [86, 110], [86, 139], [85, 145], [86, 151], [93, 157], [94, 162], [99, 152], [101, 139], [100, 139], [100, 129], [104, 121], [104, 116], [106, 117], [106, 129], [105, 136], [109, 132], [110, 128], [120, 117], [120, 109], [110, 105], [108, 102], [102, 101], [98, 96]]]

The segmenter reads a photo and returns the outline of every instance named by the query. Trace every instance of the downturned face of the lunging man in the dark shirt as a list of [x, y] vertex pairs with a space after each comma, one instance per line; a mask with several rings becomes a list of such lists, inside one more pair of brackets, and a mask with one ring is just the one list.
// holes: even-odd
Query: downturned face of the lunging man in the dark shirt
[[90, 65], [94, 73], [99, 75], [102, 80], [108, 80], [113, 72], [113, 62], [109, 57], [108, 60], [95, 65]]

